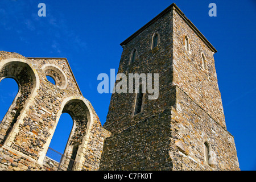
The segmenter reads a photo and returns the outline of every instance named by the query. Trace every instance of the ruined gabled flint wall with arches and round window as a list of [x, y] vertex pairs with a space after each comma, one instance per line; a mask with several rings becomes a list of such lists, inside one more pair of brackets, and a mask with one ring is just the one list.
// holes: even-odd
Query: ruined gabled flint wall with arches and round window
[[[0, 171], [98, 169], [110, 133], [82, 96], [67, 59], [1, 51], [0, 81], [3, 78], [14, 78], [19, 91], [0, 123]], [[62, 113], [71, 115], [73, 127], [57, 163], [46, 154]]]

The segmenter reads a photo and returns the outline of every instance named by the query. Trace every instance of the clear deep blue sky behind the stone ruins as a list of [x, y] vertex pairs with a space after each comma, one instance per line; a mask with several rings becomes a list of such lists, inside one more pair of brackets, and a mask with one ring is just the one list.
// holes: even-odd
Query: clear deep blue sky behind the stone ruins
[[[46, 4], [46, 17], [38, 16], [41, 2]], [[173, 2], [218, 51], [214, 59], [227, 129], [235, 138], [240, 168], [255, 170], [255, 0], [1, 0], [0, 50], [26, 57], [66, 57], [103, 124], [111, 94], [97, 92], [97, 76], [110, 69], [117, 72], [119, 44]], [[212, 2], [217, 17], [208, 15]], [[17, 92], [15, 84], [11, 79], [0, 82], [1, 119]], [[66, 116], [61, 117], [60, 130], [65, 131], [64, 125], [72, 121], [66, 124]]]

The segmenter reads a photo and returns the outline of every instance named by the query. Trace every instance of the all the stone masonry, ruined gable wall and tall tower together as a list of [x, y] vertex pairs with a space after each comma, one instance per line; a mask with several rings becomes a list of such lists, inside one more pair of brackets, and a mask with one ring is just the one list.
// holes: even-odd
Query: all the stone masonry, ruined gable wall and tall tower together
[[[173, 3], [121, 46], [118, 73], [158, 73], [159, 97], [113, 93], [103, 127], [67, 59], [0, 51], [0, 81], [19, 86], [0, 123], [0, 170], [240, 170], [217, 51], [181, 10]], [[46, 154], [62, 113], [73, 128], [57, 163]]]

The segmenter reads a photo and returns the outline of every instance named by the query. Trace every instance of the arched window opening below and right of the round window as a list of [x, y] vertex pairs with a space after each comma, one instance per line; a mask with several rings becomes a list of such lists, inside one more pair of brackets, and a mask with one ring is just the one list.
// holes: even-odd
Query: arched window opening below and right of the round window
[[[44, 158], [44, 164], [48, 165], [48, 167], [52, 166], [49, 165], [50, 163], [55, 163], [57, 166], [59, 166], [57, 169], [53, 167], [53, 170], [72, 170], [76, 165], [79, 165], [77, 160], [80, 158], [76, 157], [86, 135], [87, 124], [90, 122], [90, 112], [84, 101], [73, 99], [65, 104], [62, 113], [63, 114], [61, 114], [61, 117], [57, 123], [55, 133], [53, 134], [51, 144], [48, 149], [48, 152], [55, 155], [60, 154], [61, 157], [59, 157], [60, 159], [58, 160], [53, 159], [53, 157], [49, 156], [47, 152], [46, 158]], [[69, 122], [69, 124], [66, 121], [63, 121], [63, 117], [66, 117], [67, 115], [69, 115], [69, 121], [72, 121]], [[73, 125], [71, 125], [71, 123]], [[68, 128], [67, 125], [69, 125]], [[54, 143], [59, 145], [60, 142], [61, 148], [54, 146]], [[52, 150], [52, 147], [59, 152]]]

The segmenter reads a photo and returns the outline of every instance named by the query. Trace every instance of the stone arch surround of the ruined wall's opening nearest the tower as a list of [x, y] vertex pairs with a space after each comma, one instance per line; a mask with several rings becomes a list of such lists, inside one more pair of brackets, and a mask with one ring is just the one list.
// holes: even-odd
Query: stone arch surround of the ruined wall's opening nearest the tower
[[[74, 96], [68, 97], [62, 102], [59, 113], [56, 115], [57, 119], [55, 126], [51, 131], [51, 137], [49, 137], [46, 142], [44, 155], [40, 156], [38, 160], [39, 163], [44, 165], [47, 165], [46, 163], [48, 163], [48, 159], [46, 158], [47, 150], [56, 130], [57, 123], [59, 122], [59, 118], [63, 113], [71, 115], [73, 119], [73, 127], [65, 147], [63, 154], [64, 158], [60, 161], [60, 166], [63, 166], [64, 170], [68, 168], [75, 171], [86, 170], [85, 165], [97, 169], [100, 161], [95, 162], [94, 160], [88, 160], [86, 159], [86, 155], [91, 154], [93, 156], [98, 152], [100, 152], [99, 154], [101, 155], [103, 147], [102, 142], [106, 136], [109, 136], [109, 133], [104, 129], [102, 130], [97, 114], [90, 102], [83, 97]], [[100, 131], [97, 131], [96, 127], [97, 130], [100, 129]], [[94, 136], [95, 133], [98, 134], [98, 139]], [[100, 140], [102, 141], [100, 142]], [[95, 144], [95, 147], [100, 147], [100, 150], [96, 150], [95, 148], [92, 150], [93, 144]], [[96, 156], [93, 156], [93, 158], [95, 157]], [[73, 160], [75, 160], [74, 166], [72, 166]]]

